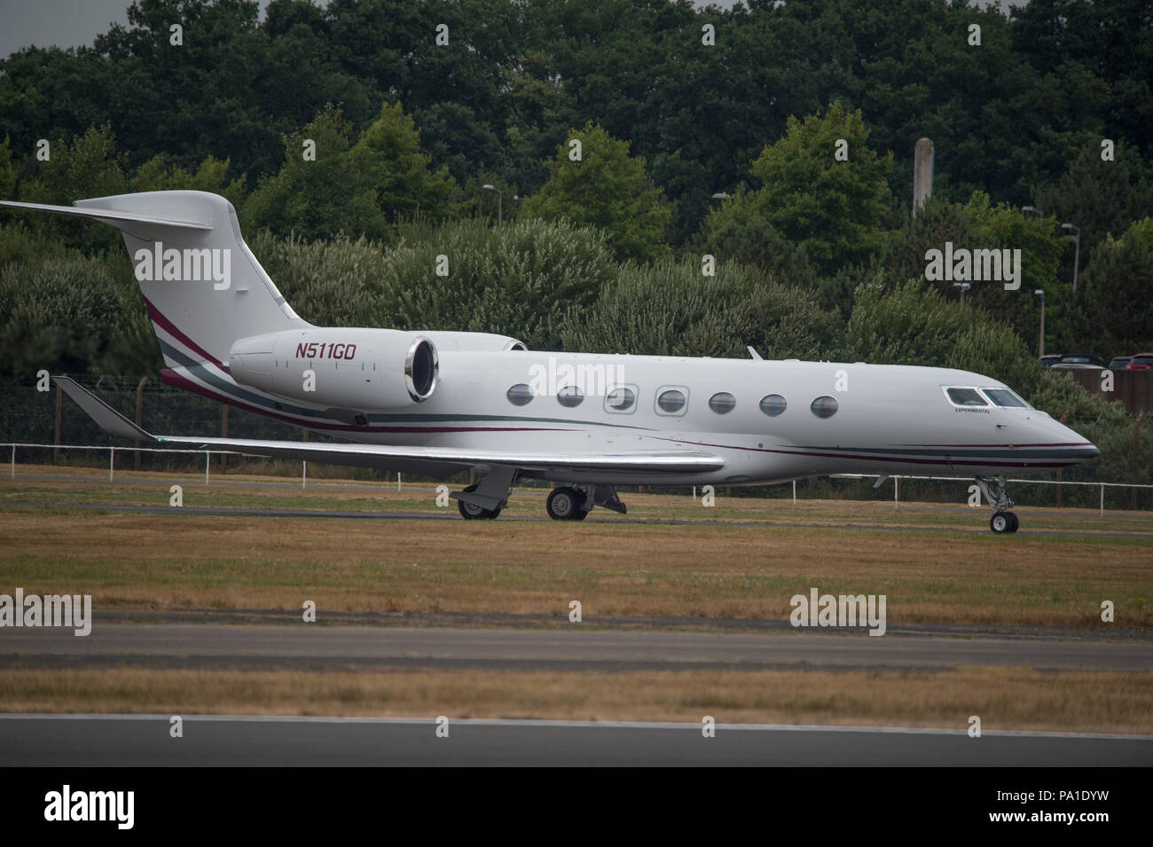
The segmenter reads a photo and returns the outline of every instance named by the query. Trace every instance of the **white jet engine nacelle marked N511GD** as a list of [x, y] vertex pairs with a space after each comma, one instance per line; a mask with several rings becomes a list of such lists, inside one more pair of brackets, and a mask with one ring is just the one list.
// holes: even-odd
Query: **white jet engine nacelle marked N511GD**
[[289, 330], [240, 339], [228, 353], [238, 383], [349, 416], [428, 400], [439, 369], [432, 341], [400, 330]]

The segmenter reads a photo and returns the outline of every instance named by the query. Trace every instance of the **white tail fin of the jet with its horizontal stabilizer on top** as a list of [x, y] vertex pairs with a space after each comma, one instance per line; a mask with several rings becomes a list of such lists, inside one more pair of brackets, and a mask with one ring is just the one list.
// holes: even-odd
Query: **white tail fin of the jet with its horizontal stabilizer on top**
[[0, 202], [118, 227], [169, 368], [223, 366], [236, 339], [308, 327], [240, 235], [236, 210], [205, 191], [145, 191], [74, 206]]

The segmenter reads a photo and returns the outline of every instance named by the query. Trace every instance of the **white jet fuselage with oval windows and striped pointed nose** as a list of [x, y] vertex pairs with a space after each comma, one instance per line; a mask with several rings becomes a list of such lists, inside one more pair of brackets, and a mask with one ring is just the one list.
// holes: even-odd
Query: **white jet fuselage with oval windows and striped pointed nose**
[[[771, 483], [830, 474], [1007, 476], [1098, 454], [1082, 436], [1028, 407], [1002, 383], [942, 368], [443, 350], [431, 396], [368, 413], [362, 422], [236, 385], [213, 365], [178, 368], [166, 380], [367, 444], [564, 454], [702, 447], [725, 460], [721, 470], [683, 477], [611, 470], [581, 471], [579, 478], [564, 471], [548, 475], [581, 483]], [[954, 392], [965, 402], [955, 402], [950, 388], [965, 390]]]

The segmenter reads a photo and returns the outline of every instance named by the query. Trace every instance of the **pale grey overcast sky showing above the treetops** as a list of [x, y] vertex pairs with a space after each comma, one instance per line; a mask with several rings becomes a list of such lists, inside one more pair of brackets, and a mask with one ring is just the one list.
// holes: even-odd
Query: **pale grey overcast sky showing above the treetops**
[[[730, 7], [736, 0], [711, 0], [713, 5]], [[993, 1], [993, 0], [990, 0]], [[1025, 0], [1000, 0], [1023, 6]], [[21, 47], [76, 47], [92, 44], [113, 23], [128, 23], [130, 0], [0, 0], [0, 56], [8, 56]], [[261, 0], [261, 7], [269, 0]], [[698, 0], [696, 6], [707, 5]], [[981, 3], [982, 6], [986, 2]]]

